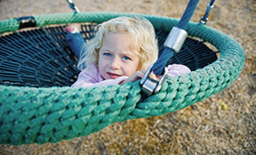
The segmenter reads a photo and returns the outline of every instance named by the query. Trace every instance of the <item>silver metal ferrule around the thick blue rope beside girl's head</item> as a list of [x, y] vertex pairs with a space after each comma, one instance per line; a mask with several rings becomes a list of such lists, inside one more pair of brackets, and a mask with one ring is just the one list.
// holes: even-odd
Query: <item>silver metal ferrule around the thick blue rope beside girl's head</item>
[[182, 47], [186, 38], [187, 31], [174, 26], [169, 35], [167, 36], [164, 46], [174, 49], [177, 53]]

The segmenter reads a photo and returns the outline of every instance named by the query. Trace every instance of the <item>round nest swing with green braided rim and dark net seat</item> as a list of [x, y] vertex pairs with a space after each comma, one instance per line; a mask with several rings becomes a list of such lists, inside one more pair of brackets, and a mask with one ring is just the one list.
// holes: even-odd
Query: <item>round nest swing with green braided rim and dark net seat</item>
[[[97, 24], [134, 15], [80, 12], [0, 21], [0, 143], [54, 143], [89, 135], [116, 121], [164, 115], [222, 91], [240, 75], [245, 60], [240, 44], [217, 29], [190, 22], [186, 30], [193, 38], [187, 37], [171, 63], [184, 64], [192, 72], [167, 78], [159, 93], [141, 100], [140, 81], [69, 88], [79, 71], [65, 43], [65, 24], [83, 23], [81, 33], [87, 40]], [[141, 16], [155, 27], [160, 57], [165, 38], [179, 20]], [[37, 27], [18, 30], [27, 26]], [[216, 47], [220, 57], [204, 42]]]

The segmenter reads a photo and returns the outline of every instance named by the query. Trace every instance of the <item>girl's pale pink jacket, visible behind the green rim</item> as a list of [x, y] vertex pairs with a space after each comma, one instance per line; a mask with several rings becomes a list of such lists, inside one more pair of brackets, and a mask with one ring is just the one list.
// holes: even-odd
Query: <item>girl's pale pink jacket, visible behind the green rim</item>
[[[168, 78], [176, 77], [190, 72], [190, 69], [184, 65], [169, 65], [168, 66]], [[91, 67], [86, 67], [80, 72], [79, 78], [71, 86], [71, 88], [76, 87], [99, 87], [99, 86], [111, 86], [118, 85], [126, 76], [116, 78], [116, 79], [104, 79], [101, 77], [98, 67], [92, 65]]]

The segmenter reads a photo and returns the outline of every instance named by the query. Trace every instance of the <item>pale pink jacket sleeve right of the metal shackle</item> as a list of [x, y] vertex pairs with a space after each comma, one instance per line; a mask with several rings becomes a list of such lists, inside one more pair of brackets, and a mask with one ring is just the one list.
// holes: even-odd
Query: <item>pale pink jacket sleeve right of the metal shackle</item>
[[191, 70], [184, 65], [169, 65], [168, 66], [168, 78], [177, 77], [191, 72]]

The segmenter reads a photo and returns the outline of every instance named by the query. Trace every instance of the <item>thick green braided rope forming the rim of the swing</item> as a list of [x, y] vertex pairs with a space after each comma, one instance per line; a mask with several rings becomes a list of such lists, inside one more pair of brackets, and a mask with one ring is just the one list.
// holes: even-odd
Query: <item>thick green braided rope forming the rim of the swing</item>
[[[37, 26], [62, 23], [101, 23], [122, 13], [35, 15]], [[155, 29], [170, 31], [178, 19], [143, 15]], [[1, 33], [15, 31], [14, 19], [0, 22]], [[116, 121], [160, 116], [184, 109], [227, 88], [240, 75], [245, 55], [230, 36], [189, 23], [189, 36], [197, 36], [217, 47], [219, 59], [187, 75], [167, 78], [161, 91], [139, 102], [139, 81], [100, 88], [24, 88], [0, 86], [0, 143], [58, 142], [86, 136]]]

